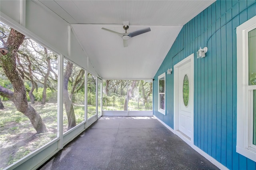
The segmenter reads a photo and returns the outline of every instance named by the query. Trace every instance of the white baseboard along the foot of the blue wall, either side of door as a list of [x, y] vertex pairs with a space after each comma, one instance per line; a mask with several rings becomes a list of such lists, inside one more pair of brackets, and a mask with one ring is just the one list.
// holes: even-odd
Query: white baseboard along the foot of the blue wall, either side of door
[[[161, 121], [160, 119], [158, 119], [157, 117], [155, 117], [160, 123], [162, 123], [166, 128], [168, 128], [171, 132], [173, 132], [174, 134], [176, 134], [176, 132], [169, 127], [168, 125], [166, 125], [163, 121]], [[185, 141], [185, 140], [184, 140]], [[187, 141], [185, 141], [186, 143], [188, 143]], [[194, 150], [196, 150], [196, 152], [198, 152], [200, 155], [204, 156], [204, 158], [206, 158], [207, 160], [209, 160], [210, 162], [212, 162], [212, 164], [214, 164], [215, 166], [217, 166], [218, 168], [220, 168], [221, 170], [228, 170], [228, 168], [224, 165], [222, 165], [220, 162], [218, 162], [216, 159], [214, 159], [212, 156], [208, 155], [206, 152], [204, 152], [203, 150], [201, 150], [200, 148], [198, 148], [196, 145], [188, 143], [188, 145], [190, 145]]]

